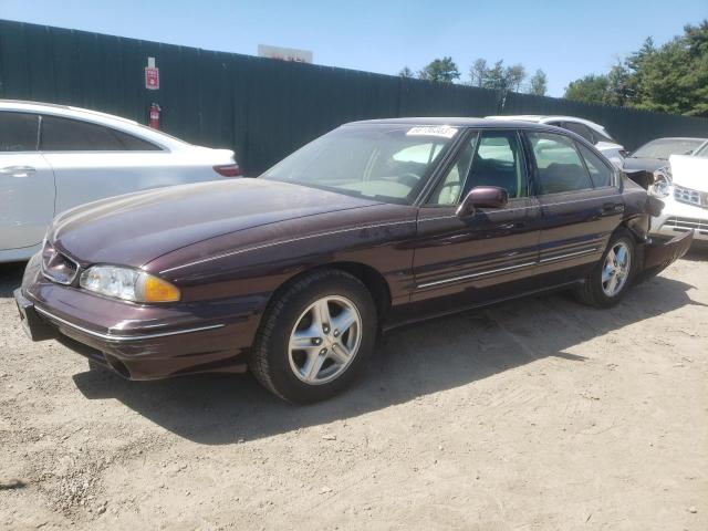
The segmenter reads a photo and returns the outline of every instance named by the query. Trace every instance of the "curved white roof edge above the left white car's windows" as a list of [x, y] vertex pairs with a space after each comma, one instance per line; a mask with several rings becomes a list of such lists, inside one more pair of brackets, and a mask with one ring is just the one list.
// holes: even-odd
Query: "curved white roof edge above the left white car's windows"
[[133, 119], [123, 118], [113, 114], [92, 111], [90, 108], [73, 107], [71, 105], [59, 105], [54, 103], [28, 102], [22, 100], [0, 100], [0, 111], [14, 111], [25, 113], [51, 114], [66, 118], [82, 119], [118, 131], [131, 133], [146, 140], [152, 140], [170, 149], [184, 149], [190, 144], [175, 138], [160, 131], [152, 129], [145, 125], [138, 124]]

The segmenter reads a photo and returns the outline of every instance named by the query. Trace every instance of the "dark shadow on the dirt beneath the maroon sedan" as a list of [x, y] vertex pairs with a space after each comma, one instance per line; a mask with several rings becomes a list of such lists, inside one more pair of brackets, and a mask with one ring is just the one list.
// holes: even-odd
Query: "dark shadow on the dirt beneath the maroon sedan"
[[117, 398], [159, 426], [198, 444], [226, 445], [352, 418], [468, 385], [541, 358], [583, 363], [574, 345], [662, 315], [691, 301], [690, 284], [655, 278], [612, 310], [582, 306], [565, 294], [466, 312], [386, 334], [364, 377], [315, 405], [285, 404], [252, 376], [198, 375], [127, 382], [106, 371], [73, 376], [88, 399]]

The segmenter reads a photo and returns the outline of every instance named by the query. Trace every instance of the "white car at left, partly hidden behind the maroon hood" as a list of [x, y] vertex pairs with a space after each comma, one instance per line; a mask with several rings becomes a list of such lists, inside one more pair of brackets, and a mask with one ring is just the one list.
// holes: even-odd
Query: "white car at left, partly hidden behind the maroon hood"
[[29, 259], [54, 216], [72, 207], [238, 175], [230, 149], [94, 111], [0, 100], [0, 262]]

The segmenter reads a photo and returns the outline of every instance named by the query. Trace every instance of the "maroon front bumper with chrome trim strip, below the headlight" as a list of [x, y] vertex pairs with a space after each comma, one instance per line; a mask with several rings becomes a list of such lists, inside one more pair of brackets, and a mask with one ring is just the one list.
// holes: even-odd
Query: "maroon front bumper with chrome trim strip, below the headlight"
[[252, 300], [140, 305], [56, 284], [34, 257], [14, 292], [33, 341], [55, 339], [129, 379], [246, 369], [257, 326]]

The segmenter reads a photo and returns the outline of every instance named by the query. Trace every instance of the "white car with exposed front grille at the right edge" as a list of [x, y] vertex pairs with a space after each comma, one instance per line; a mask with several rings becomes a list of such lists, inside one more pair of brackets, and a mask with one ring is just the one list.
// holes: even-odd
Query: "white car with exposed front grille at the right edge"
[[650, 233], [674, 237], [694, 230], [694, 241], [708, 242], [708, 144], [694, 155], [671, 155], [668, 160], [649, 187], [665, 204], [662, 215], [652, 218]]

